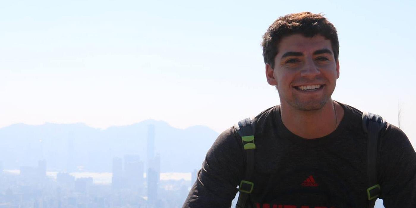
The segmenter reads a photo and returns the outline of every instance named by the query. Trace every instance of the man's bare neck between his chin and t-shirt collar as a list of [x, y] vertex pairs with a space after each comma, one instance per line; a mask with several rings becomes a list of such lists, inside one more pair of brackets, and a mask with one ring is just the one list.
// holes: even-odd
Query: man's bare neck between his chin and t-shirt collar
[[344, 109], [329, 99], [319, 110], [303, 111], [282, 103], [282, 122], [289, 131], [305, 139], [326, 136], [337, 128], [344, 116]]

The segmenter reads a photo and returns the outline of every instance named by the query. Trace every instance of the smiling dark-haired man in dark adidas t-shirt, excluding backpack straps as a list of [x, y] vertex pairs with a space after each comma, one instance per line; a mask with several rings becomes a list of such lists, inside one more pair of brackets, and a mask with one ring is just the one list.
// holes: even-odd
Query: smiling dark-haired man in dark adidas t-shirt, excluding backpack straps
[[[262, 47], [267, 82], [277, 88], [280, 105], [254, 119], [254, 186], [246, 207], [368, 207], [363, 113], [331, 99], [339, 77], [335, 27], [319, 14], [286, 15], [269, 27]], [[415, 208], [416, 153], [409, 139], [386, 124], [376, 154], [384, 206]], [[230, 207], [246, 164], [237, 129], [225, 130], [183, 208]]]

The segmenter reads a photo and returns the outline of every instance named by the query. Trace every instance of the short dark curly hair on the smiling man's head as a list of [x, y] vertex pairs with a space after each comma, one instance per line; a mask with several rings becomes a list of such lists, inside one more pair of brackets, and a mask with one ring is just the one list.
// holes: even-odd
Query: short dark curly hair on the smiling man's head
[[339, 42], [337, 29], [321, 13], [301, 12], [289, 14], [275, 20], [263, 35], [262, 47], [264, 63], [275, 67], [275, 57], [279, 42], [283, 37], [293, 34], [302, 34], [305, 37], [313, 37], [317, 34], [331, 41], [335, 60], [338, 61]]

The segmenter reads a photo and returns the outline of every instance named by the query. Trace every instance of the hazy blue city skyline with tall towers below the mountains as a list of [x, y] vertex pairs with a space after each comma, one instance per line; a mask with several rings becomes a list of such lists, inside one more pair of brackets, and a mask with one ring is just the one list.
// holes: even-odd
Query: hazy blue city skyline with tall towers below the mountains
[[[67, 157], [63, 159], [68, 161], [64, 170], [52, 175], [47, 171], [47, 160], [43, 155], [44, 146], [48, 147], [49, 142], [46, 138], [40, 139], [39, 147], [35, 147], [35, 152], [30, 153], [38, 158], [37, 166], [20, 166], [19, 171], [3, 170], [3, 161], [0, 160], [0, 187], [2, 187], [0, 207], [181, 207], [192, 181], [185, 178], [176, 180], [169, 176], [161, 177], [161, 157], [156, 151], [155, 144], [157, 126], [160, 124], [144, 124], [144, 126], [147, 130], [146, 143], [148, 143], [146, 145], [147, 174], [139, 154], [125, 154], [123, 158], [112, 158], [112, 173], [107, 174], [107, 177], [111, 177], [111, 183], [94, 183], [95, 178], [91, 173], [77, 177], [70, 172], [73, 171], [73, 166], [79, 167], [79, 161], [74, 157], [79, 148], [77, 146], [79, 132], [76, 129], [66, 129], [66, 142], [69, 145]], [[0, 135], [2, 135], [1, 131]], [[136, 136], [136, 140], [140, 140], [140, 137]], [[141, 150], [139, 147], [136, 146], [138, 151]], [[46, 150], [49, 151], [47, 148]]]

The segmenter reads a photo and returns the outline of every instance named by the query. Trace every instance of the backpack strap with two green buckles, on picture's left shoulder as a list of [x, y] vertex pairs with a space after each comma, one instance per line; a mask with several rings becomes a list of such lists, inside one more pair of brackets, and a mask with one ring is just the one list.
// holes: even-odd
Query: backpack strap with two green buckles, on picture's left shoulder
[[243, 147], [246, 153], [246, 164], [245, 164], [245, 177], [238, 186], [240, 192], [238, 196], [236, 208], [245, 208], [248, 203], [248, 196], [253, 191], [254, 183], [251, 182], [251, 176], [254, 170], [254, 150], [256, 145], [254, 144], [254, 133], [255, 133], [255, 121], [254, 118], [247, 118], [238, 121], [235, 124], [235, 130], [241, 136]]

